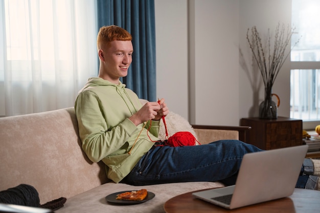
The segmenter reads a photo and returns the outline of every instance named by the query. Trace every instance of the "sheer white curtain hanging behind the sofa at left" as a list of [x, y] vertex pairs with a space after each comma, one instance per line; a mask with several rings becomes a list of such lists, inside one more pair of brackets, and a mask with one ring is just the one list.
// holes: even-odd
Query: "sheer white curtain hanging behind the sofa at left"
[[0, 116], [74, 106], [98, 73], [95, 2], [0, 1]]

